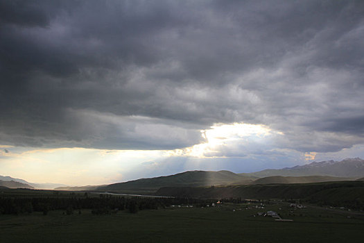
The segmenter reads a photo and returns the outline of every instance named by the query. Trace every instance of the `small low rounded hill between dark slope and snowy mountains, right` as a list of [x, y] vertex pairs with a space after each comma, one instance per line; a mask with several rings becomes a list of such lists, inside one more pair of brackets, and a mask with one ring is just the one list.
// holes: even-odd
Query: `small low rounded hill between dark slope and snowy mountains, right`
[[350, 177], [333, 176], [268, 176], [259, 178], [252, 184], [292, 184], [292, 183], [319, 183], [327, 181], [352, 181]]

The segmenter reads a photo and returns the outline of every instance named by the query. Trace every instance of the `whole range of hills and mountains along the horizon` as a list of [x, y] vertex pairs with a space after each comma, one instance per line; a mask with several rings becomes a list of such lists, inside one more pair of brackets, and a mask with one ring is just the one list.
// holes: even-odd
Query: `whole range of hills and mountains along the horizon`
[[[162, 187], [210, 187], [213, 185], [252, 185], [252, 184], [287, 184], [318, 183], [327, 181], [354, 181], [364, 177], [364, 160], [347, 158], [341, 161], [311, 162], [283, 169], [265, 169], [253, 173], [236, 174], [232, 171], [185, 171], [171, 176], [141, 178], [135, 181], [110, 185], [87, 185], [70, 187], [53, 183], [28, 183], [19, 178], [0, 176], [0, 181], [13, 181], [19, 187], [55, 190], [96, 190], [108, 192], [150, 194]], [[3, 185], [3, 184], [0, 184]], [[15, 184], [12, 184], [15, 185]], [[28, 185], [28, 187], [26, 186]], [[6, 186], [6, 185], [3, 185]], [[7, 187], [7, 186], [6, 186]], [[17, 187], [12, 186], [12, 187]]]

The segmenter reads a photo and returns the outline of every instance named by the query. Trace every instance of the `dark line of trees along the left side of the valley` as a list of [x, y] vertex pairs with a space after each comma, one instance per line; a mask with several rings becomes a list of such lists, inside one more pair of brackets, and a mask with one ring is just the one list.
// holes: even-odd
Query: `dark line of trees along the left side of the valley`
[[33, 198], [0, 198], [0, 214], [25, 214], [31, 212], [43, 212], [48, 214], [50, 210], [64, 210], [67, 215], [83, 209], [92, 210], [95, 215], [112, 214], [118, 210], [128, 210], [135, 213], [139, 210], [165, 208], [171, 205], [206, 205], [211, 200], [188, 198], [147, 198], [126, 197], [100, 194], [100, 196], [70, 196], [70, 197], [33, 197]]

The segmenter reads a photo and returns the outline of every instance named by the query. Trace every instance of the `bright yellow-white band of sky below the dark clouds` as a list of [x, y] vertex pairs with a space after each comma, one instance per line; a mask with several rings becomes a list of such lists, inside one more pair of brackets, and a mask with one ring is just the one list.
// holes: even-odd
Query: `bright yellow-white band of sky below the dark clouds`
[[[202, 130], [206, 142], [175, 150], [103, 150], [83, 148], [32, 149], [0, 145], [0, 171], [4, 176], [32, 183], [101, 185], [201, 169], [229, 169], [236, 173], [267, 167], [290, 167], [313, 159], [363, 157], [364, 145], [336, 153], [302, 153], [280, 149], [268, 126], [216, 124]], [[254, 161], [254, 163], [252, 163]]]

